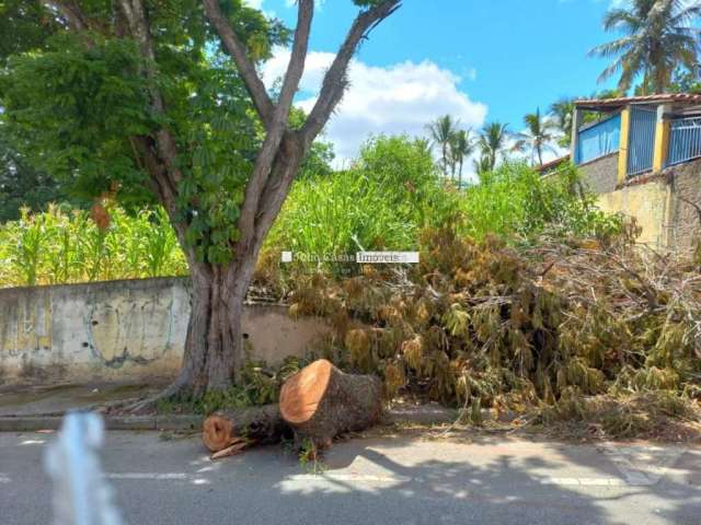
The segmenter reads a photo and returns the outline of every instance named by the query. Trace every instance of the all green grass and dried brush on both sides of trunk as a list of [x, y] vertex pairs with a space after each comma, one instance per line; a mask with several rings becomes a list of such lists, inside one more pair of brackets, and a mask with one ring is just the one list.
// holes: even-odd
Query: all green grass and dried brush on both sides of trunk
[[[380, 374], [388, 398], [435, 399], [474, 422], [494, 408], [658, 434], [697, 415], [701, 278], [634, 237], [574, 168], [542, 178], [507, 163], [458, 189], [423, 141], [379, 137], [347, 171], [296, 183], [255, 285], [291, 315], [326, 317], [333, 335], [315, 354]], [[159, 211], [110, 205], [25, 213], [2, 226], [0, 249], [4, 285], [186, 272]], [[283, 249], [312, 257], [281, 264]], [[418, 250], [421, 264], [335, 260], [372, 249]], [[294, 370], [251, 363], [240, 389], [202, 409], [275, 400]]]

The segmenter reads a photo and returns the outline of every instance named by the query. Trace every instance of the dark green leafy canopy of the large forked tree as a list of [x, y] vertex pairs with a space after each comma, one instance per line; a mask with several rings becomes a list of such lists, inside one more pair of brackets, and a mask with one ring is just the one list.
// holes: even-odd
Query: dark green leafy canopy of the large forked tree
[[[71, 5], [51, 3], [44, 15], [59, 16]], [[223, 5], [254, 61], [288, 42], [289, 32], [260, 11], [240, 0]], [[200, 260], [226, 259], [263, 131], [199, 2], [171, 0], [150, 10], [158, 57], [152, 75], [145, 74], [138, 43], [123, 36], [126, 21], [112, 22], [112, 2], [81, 2], [81, 8], [68, 23], [85, 31], [56, 24], [41, 42], [18, 34], [28, 38], [26, 46], [15, 46], [25, 52], [9, 56], [0, 77], [4, 127], [15, 148], [28, 164], [81, 195], [112, 192], [122, 201], [143, 202], [157, 191], [141, 138], [166, 126], [183, 174], [175, 219], [186, 220], [186, 237]], [[162, 94], [163, 112], [151, 105], [153, 86]]]

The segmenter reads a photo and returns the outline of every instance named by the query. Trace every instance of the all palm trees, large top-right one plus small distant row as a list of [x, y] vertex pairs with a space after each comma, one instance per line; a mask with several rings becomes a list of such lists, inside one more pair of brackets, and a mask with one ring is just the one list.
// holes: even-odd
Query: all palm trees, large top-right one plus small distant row
[[[616, 89], [587, 98], [625, 96], [631, 89], [635, 95], [701, 93], [700, 16], [698, 0], [632, 0], [610, 9], [604, 16], [604, 28], [622, 36], [596, 46], [589, 56], [613, 59], [599, 75], [599, 82], [616, 74], [620, 75], [619, 81]], [[444, 175], [461, 186], [463, 162], [473, 153], [473, 171], [479, 176], [494, 171], [512, 152], [526, 154], [532, 165], [542, 166], [545, 153], [555, 153], [556, 147], [570, 147], [575, 100], [563, 97], [544, 115], [537, 108], [524, 117], [524, 128], [517, 132], [498, 121], [474, 132], [462, 129], [450, 115], [437, 118], [427, 128]]]

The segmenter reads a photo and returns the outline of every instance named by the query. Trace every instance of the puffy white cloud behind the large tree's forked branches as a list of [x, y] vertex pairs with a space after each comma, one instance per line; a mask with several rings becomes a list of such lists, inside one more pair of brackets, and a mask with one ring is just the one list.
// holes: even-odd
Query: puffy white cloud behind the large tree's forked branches
[[[307, 57], [300, 82], [298, 105], [310, 112], [333, 54], [312, 51]], [[263, 70], [271, 86], [287, 68], [289, 50], [278, 49]], [[350, 86], [326, 126], [326, 138], [334, 143], [341, 162], [353, 159], [360, 144], [375, 133], [425, 135], [426, 124], [450, 114], [464, 127], [484, 124], [487, 107], [473, 102], [458, 88], [460, 79], [451, 71], [425, 60], [388, 67], [368, 66], [354, 60], [348, 70]]]

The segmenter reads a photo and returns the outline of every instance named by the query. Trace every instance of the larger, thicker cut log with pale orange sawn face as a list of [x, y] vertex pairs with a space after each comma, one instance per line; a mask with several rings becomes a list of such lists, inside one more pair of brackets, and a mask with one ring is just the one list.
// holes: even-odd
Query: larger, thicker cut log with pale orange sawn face
[[344, 374], [325, 359], [292, 375], [280, 390], [280, 413], [301, 445], [326, 447], [344, 433], [367, 429], [382, 412], [382, 387], [372, 375]]

